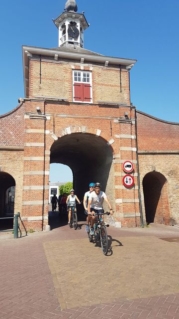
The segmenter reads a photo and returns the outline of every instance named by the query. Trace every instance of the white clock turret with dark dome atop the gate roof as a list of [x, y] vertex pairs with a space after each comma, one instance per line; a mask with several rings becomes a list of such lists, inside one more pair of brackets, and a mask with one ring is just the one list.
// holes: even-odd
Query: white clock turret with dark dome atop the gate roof
[[54, 21], [59, 30], [59, 46], [84, 47], [84, 31], [89, 27], [84, 12], [78, 13], [76, 0], [67, 0], [64, 12]]

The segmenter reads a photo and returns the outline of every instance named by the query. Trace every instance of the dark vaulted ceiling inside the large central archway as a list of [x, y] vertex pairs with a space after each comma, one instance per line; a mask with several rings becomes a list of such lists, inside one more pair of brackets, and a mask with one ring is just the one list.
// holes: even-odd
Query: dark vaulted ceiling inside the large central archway
[[64, 135], [51, 147], [50, 163], [66, 164], [72, 169], [74, 188], [81, 200], [91, 181], [99, 181], [103, 191], [112, 191], [109, 191], [114, 184], [112, 160], [112, 147], [94, 134]]

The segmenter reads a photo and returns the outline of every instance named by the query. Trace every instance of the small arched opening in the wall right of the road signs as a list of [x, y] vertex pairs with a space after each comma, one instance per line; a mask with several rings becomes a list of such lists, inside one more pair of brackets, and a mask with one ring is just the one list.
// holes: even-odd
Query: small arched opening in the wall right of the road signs
[[143, 178], [143, 192], [146, 222], [169, 225], [170, 210], [166, 177], [157, 171], [147, 173]]

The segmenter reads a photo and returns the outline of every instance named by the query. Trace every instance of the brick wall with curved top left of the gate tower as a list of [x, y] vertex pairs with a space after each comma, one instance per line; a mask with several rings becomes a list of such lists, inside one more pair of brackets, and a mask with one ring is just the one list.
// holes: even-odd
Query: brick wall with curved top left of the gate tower
[[[0, 116], [0, 187], [4, 194], [12, 186], [5, 183], [11, 175], [15, 180], [14, 212], [22, 211], [24, 104]], [[8, 175], [9, 174], [9, 175]], [[2, 176], [6, 177], [6, 180]], [[4, 186], [4, 187], [3, 187]], [[2, 204], [2, 203], [1, 203]], [[4, 207], [2, 204], [1, 207]], [[3, 211], [1, 211], [3, 214]]]

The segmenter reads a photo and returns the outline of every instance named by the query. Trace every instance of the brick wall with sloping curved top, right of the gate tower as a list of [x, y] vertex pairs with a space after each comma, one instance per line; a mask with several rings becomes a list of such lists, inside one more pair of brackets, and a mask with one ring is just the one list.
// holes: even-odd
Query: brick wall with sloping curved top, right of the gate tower
[[[158, 172], [166, 179], [156, 210], [156, 222], [179, 223], [179, 123], [169, 123], [137, 112], [137, 140], [142, 206], [145, 215], [143, 179]], [[153, 186], [157, 182], [153, 179]], [[160, 186], [156, 189], [156, 193]], [[153, 192], [154, 194], [155, 192]], [[155, 200], [154, 195], [151, 200]]]

